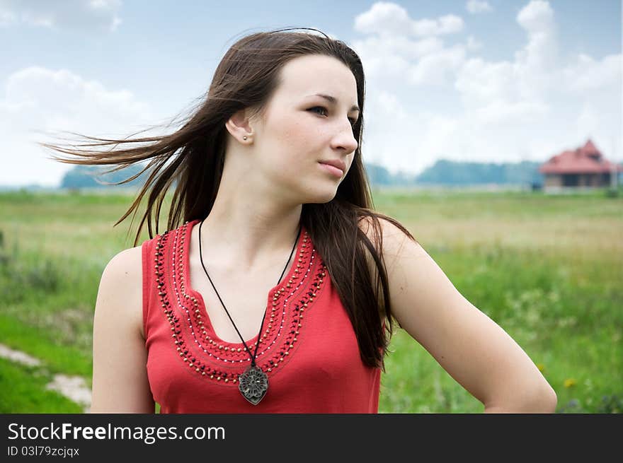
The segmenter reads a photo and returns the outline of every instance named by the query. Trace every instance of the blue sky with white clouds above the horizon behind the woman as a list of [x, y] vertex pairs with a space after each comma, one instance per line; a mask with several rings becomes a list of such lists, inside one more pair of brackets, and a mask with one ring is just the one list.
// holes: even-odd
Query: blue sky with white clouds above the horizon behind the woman
[[544, 161], [589, 137], [622, 162], [621, 24], [613, 0], [0, 0], [0, 185], [56, 186], [72, 166], [35, 141], [166, 123], [235, 40], [282, 27], [360, 54], [367, 162]]

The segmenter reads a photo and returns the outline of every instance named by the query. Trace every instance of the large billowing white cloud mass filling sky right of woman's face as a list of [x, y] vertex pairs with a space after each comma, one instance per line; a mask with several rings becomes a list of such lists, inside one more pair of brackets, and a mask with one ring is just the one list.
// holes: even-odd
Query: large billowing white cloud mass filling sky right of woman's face
[[[474, 56], [481, 43], [473, 35], [451, 47], [435, 35], [425, 39], [434, 42], [411, 42], [410, 25], [432, 30], [433, 22], [383, 5], [387, 24], [375, 23], [370, 8], [358, 18], [367, 18], [370, 28], [360, 30], [371, 35], [355, 43], [364, 66], [373, 63], [363, 147], [368, 159], [410, 172], [442, 157], [543, 161], [588, 136], [607, 158], [623, 158], [622, 55], [563, 56], [547, 1], [519, 9], [515, 20], [525, 43], [499, 60]], [[409, 32], [391, 35], [390, 18], [396, 30]]]

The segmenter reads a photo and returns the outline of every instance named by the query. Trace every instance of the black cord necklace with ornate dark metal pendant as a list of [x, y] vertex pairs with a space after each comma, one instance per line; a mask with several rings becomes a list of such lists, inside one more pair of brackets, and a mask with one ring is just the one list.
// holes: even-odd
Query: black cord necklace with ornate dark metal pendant
[[[238, 328], [236, 327], [234, 320], [232, 320], [232, 316], [229, 315], [229, 312], [227, 311], [227, 307], [225, 307], [225, 304], [223, 303], [223, 300], [221, 299], [221, 296], [219, 295], [217, 288], [215, 287], [214, 283], [212, 283], [212, 279], [210, 278], [210, 275], [207, 274], [207, 270], [205, 269], [205, 265], [203, 264], [203, 255], [201, 252], [201, 225], [203, 225], [204, 221], [205, 219], [201, 221], [201, 223], [199, 224], [199, 259], [201, 261], [201, 266], [203, 267], [203, 271], [205, 271], [205, 276], [207, 276], [207, 279], [210, 280], [210, 284], [212, 284], [212, 288], [214, 288], [215, 293], [217, 293], [217, 298], [219, 298], [219, 300], [221, 301], [221, 304], [223, 308], [225, 309], [225, 313], [227, 313], [227, 317], [229, 317], [229, 320], [232, 321], [232, 324], [234, 325], [234, 329], [236, 330], [236, 333], [238, 333], [238, 336], [240, 336], [242, 344], [244, 344], [244, 348], [246, 348], [246, 351], [249, 353], [249, 355], [251, 355], [251, 349], [248, 348], [248, 346], [246, 345], [246, 342], [244, 342], [242, 335], [238, 331]], [[290, 252], [290, 257], [287, 259], [287, 262], [285, 264], [285, 267], [283, 268], [283, 271], [281, 272], [281, 276], [279, 277], [277, 284], [279, 284], [279, 282], [283, 278], [283, 274], [285, 274], [285, 269], [287, 269], [287, 264], [290, 264], [290, 260], [292, 259], [292, 254], [294, 254], [295, 250], [297, 249], [297, 242], [299, 241], [299, 236], [301, 235], [301, 227], [302, 225], [299, 225], [299, 233], [297, 233], [297, 239], [295, 240], [295, 245], [292, 247], [292, 252]], [[262, 369], [258, 368], [258, 366], [256, 365], [256, 355], [258, 354], [258, 347], [260, 346], [262, 328], [264, 327], [264, 319], [266, 318], [267, 310], [268, 310], [268, 306], [265, 307], [264, 309], [264, 316], [262, 317], [262, 323], [260, 324], [260, 332], [258, 334], [256, 350], [255, 352], [253, 352], [253, 356], [251, 356], [251, 365], [244, 371], [244, 373], [242, 373], [241, 375], [238, 375], [238, 389], [240, 390], [242, 397], [247, 399], [248, 402], [251, 402], [251, 404], [253, 405], [259, 404], [261, 399], [264, 398], [266, 391], [268, 390], [268, 375], [266, 375], [266, 373], [264, 373]]]

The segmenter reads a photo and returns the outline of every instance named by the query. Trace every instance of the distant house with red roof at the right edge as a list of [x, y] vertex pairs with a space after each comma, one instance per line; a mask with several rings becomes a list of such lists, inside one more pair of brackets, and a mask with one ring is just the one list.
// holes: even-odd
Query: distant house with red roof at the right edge
[[616, 187], [623, 166], [606, 160], [588, 139], [584, 146], [552, 156], [539, 167], [544, 189]]

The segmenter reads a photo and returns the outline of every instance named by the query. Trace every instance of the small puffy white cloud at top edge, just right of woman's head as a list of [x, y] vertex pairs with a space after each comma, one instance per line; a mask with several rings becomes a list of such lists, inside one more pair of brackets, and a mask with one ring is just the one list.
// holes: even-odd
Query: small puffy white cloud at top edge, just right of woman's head
[[463, 19], [459, 16], [413, 20], [402, 6], [384, 1], [378, 1], [368, 11], [355, 17], [355, 30], [381, 36], [443, 35], [458, 33], [463, 27]]

